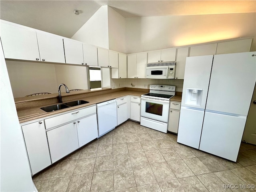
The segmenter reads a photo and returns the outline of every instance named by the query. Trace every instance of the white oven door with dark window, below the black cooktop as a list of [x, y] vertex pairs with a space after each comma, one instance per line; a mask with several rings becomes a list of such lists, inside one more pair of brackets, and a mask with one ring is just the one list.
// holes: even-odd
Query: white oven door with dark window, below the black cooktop
[[142, 97], [140, 114], [142, 117], [167, 123], [169, 116], [169, 105], [169, 100]]

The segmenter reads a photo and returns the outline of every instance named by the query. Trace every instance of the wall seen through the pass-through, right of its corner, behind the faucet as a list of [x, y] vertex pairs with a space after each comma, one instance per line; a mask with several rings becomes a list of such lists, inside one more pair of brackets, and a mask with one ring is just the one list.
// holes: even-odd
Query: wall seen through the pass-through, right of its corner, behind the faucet
[[[85, 66], [55, 65], [57, 85], [65, 84], [68, 89], [88, 89]], [[58, 92], [58, 86], [55, 88]], [[64, 86], [61, 87], [64, 92]], [[56, 91], [55, 91], [56, 92]]]

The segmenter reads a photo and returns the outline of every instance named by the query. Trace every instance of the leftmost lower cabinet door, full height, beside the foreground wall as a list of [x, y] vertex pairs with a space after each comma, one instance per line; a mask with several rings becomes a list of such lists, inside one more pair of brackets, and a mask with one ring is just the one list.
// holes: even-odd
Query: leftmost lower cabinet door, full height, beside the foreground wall
[[44, 128], [44, 121], [22, 126], [32, 174], [51, 164], [50, 153]]

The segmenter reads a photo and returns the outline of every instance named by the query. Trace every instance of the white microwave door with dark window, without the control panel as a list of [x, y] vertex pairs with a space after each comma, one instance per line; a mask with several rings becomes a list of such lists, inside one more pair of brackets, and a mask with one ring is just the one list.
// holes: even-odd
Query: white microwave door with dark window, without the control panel
[[147, 67], [146, 72], [146, 78], [167, 79], [168, 67]]

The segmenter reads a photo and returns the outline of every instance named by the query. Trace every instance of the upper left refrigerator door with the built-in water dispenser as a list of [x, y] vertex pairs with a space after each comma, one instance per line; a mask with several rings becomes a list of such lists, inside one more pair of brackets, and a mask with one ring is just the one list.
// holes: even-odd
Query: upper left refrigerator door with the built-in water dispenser
[[213, 55], [186, 58], [182, 106], [205, 109]]

